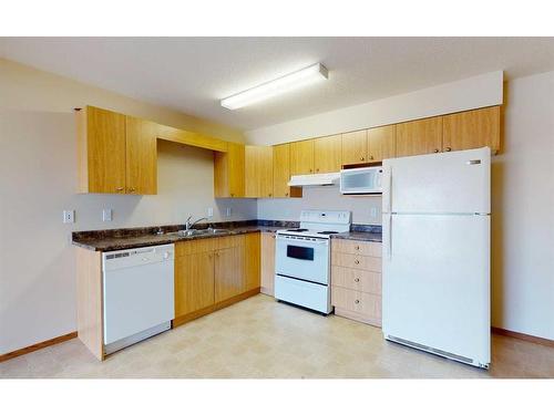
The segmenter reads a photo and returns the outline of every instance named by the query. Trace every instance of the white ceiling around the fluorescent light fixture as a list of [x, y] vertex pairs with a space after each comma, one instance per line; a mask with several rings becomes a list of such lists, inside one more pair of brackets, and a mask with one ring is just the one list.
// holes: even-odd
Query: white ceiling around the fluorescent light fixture
[[[240, 129], [504, 70], [554, 70], [554, 38], [0, 38], [0, 56]], [[321, 62], [329, 81], [229, 111], [219, 100]]]

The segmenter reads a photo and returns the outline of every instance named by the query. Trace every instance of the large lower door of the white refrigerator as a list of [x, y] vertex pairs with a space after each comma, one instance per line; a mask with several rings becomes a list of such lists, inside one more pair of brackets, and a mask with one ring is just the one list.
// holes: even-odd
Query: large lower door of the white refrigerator
[[488, 366], [489, 258], [489, 216], [384, 215], [384, 336]]

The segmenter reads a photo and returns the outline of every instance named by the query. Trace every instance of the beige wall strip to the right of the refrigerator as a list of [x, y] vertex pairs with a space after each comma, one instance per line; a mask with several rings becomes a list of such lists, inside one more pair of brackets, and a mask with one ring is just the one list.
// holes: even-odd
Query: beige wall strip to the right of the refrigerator
[[507, 83], [493, 158], [492, 323], [554, 340], [554, 72]]

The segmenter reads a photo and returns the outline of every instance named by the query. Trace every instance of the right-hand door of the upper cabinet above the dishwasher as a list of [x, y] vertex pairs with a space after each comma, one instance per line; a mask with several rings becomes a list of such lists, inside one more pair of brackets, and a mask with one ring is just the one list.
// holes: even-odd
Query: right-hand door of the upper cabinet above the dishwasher
[[126, 193], [157, 191], [157, 124], [126, 116]]

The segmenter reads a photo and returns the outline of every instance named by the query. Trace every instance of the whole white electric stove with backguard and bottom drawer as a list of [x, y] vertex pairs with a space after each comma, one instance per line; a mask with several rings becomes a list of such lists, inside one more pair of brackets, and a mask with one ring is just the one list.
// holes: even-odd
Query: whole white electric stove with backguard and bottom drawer
[[330, 236], [350, 230], [348, 210], [302, 210], [300, 227], [277, 231], [275, 298], [331, 312]]

